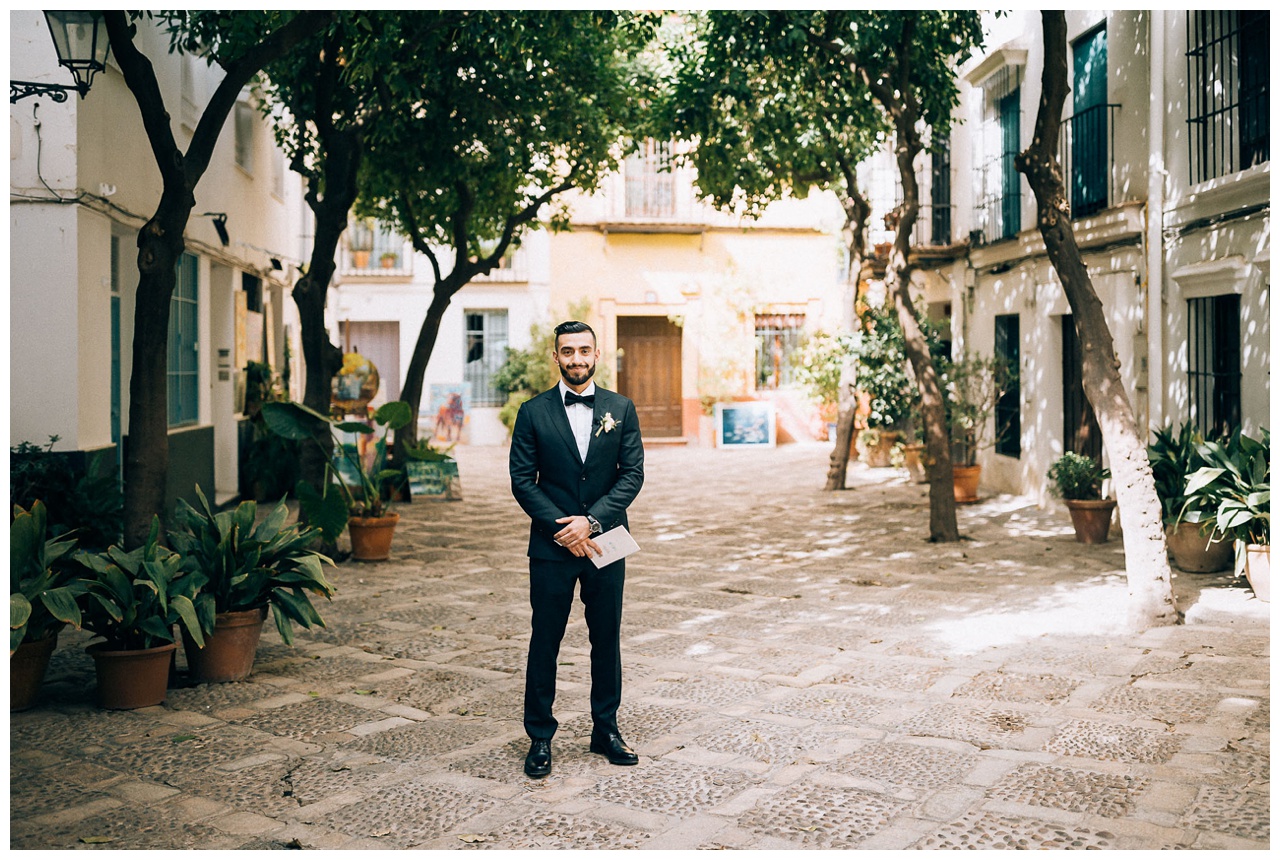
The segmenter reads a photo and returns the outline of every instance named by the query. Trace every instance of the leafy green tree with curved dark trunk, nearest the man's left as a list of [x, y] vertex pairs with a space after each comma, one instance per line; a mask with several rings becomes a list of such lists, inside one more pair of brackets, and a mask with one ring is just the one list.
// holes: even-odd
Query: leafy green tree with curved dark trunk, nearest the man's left
[[548, 205], [616, 166], [650, 104], [643, 60], [654, 23], [613, 12], [396, 13], [353, 52], [349, 73], [399, 114], [369, 134], [357, 212], [397, 225], [435, 279], [402, 394], [415, 410], [452, 297], [521, 230], [567, 224]]

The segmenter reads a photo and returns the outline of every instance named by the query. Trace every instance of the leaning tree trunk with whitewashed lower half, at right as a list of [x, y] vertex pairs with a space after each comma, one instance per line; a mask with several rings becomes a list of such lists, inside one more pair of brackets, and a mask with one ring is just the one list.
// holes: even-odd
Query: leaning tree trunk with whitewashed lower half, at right
[[1110, 468], [1124, 527], [1129, 621], [1146, 628], [1178, 623], [1160, 499], [1138, 433], [1133, 406], [1120, 379], [1111, 329], [1088, 269], [1080, 260], [1071, 227], [1062, 171], [1055, 154], [1066, 100], [1066, 20], [1061, 12], [1041, 13], [1044, 29], [1044, 72], [1032, 145], [1018, 156], [1036, 195], [1037, 223], [1050, 262], [1071, 306], [1083, 354], [1084, 395], [1093, 406], [1110, 454]]

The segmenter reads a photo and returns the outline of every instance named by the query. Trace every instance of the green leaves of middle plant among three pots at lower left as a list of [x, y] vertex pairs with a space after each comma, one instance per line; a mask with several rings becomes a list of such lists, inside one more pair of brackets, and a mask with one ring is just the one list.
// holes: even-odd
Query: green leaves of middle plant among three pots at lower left
[[[152, 517], [147, 540], [132, 552], [77, 553], [83, 566], [79, 595], [82, 625], [115, 650], [142, 650], [174, 641], [182, 625], [204, 648], [211, 625], [201, 623], [196, 600], [205, 577], [182, 567], [182, 558], [160, 545], [160, 518]], [[211, 618], [210, 618], [211, 621]]]

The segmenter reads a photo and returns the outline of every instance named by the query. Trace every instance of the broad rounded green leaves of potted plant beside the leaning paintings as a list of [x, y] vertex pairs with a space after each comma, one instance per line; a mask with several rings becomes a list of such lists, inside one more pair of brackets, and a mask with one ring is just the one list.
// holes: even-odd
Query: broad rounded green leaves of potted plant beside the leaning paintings
[[[374, 426], [364, 421], [333, 421], [302, 403], [282, 401], [262, 404], [262, 418], [271, 433], [285, 439], [310, 442], [324, 450], [323, 439], [333, 443], [334, 459], [326, 468], [324, 490], [315, 490], [306, 481], [298, 481], [298, 503], [307, 522], [320, 529], [325, 540], [337, 540], [351, 517], [381, 517], [390, 508], [389, 498], [404, 474], [387, 465], [388, 436], [393, 430], [408, 426], [413, 411], [404, 401], [383, 403], [372, 415], [374, 425], [383, 429], [374, 443], [374, 458], [366, 463], [355, 445], [343, 443], [343, 434], [374, 434]], [[344, 476], [346, 474], [346, 476]], [[387, 498], [384, 498], [384, 495]]]

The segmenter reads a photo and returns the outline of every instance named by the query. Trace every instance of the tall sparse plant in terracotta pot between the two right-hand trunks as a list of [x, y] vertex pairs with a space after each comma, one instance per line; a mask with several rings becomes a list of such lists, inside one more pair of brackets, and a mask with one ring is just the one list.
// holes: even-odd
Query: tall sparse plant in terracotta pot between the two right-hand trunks
[[982, 479], [978, 453], [996, 444], [992, 415], [1011, 376], [1012, 370], [1002, 358], [969, 352], [942, 371], [956, 502], [978, 500]]

